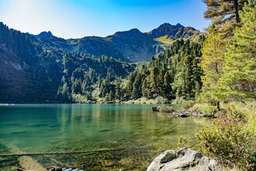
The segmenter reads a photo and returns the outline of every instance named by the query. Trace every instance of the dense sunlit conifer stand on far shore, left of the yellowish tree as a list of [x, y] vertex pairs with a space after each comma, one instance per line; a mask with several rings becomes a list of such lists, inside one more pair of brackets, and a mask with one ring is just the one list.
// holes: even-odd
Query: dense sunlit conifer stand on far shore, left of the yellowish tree
[[201, 61], [203, 40], [204, 37], [199, 43], [177, 40], [170, 50], [153, 57], [149, 65], [139, 65], [128, 77], [128, 96], [131, 99], [142, 96], [147, 99], [156, 99], [158, 96], [166, 99], [179, 96], [194, 99], [202, 88], [202, 69], [198, 63]]

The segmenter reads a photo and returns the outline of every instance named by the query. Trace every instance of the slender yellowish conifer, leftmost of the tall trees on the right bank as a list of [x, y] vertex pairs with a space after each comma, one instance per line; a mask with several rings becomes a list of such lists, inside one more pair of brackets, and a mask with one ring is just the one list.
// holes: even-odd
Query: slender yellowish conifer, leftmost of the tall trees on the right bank
[[224, 53], [226, 51], [226, 39], [219, 33], [216, 26], [209, 28], [202, 48], [202, 61], [200, 63], [204, 76], [202, 76], [202, 98], [216, 102], [219, 110], [219, 96], [216, 93], [216, 83], [223, 75]]

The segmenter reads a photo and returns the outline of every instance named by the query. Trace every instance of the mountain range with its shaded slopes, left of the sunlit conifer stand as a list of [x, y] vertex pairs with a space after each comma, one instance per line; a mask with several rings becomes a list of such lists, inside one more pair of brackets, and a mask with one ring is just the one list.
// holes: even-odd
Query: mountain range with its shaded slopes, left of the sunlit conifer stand
[[31, 35], [0, 23], [0, 103], [128, 99], [125, 79], [136, 67], [128, 61], [150, 61], [170, 46], [161, 37], [171, 41], [200, 34], [192, 27], [165, 23], [149, 33], [132, 29], [65, 40], [50, 31]]

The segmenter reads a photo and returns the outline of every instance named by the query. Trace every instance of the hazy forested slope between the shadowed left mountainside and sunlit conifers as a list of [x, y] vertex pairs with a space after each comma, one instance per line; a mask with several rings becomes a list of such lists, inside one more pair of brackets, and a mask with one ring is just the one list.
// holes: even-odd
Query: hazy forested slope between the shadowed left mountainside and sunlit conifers
[[103, 102], [121, 99], [121, 80], [133, 72], [135, 65], [113, 58], [88, 58], [81, 54], [65, 54], [64, 75], [57, 99], [62, 103], [88, 103], [104, 98]]

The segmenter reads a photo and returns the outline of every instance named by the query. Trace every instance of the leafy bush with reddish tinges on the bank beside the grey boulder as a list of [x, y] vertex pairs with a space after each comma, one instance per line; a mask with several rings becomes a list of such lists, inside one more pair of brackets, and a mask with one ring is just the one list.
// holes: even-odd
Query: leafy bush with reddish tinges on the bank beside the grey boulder
[[235, 113], [233, 106], [210, 126], [202, 126], [198, 131], [199, 150], [216, 158], [226, 166], [249, 168], [255, 149], [256, 138], [247, 129], [248, 120], [244, 114]]

